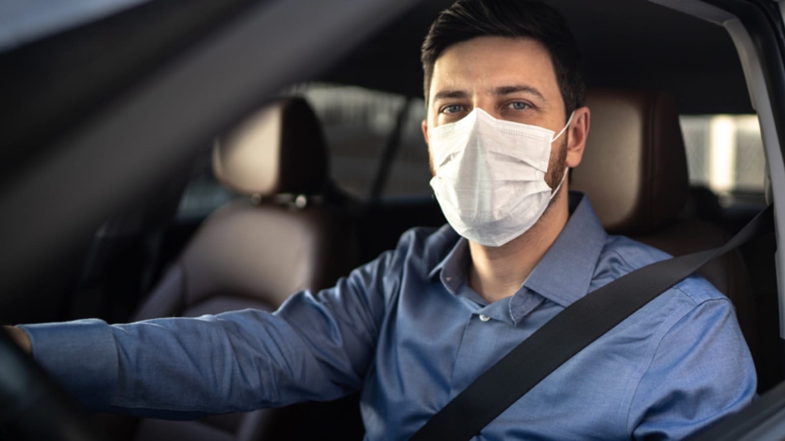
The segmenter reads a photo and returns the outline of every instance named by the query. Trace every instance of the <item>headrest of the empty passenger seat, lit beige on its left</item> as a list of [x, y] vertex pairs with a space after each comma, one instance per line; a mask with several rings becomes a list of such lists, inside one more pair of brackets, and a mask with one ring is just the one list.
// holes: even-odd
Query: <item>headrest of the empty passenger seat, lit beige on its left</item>
[[213, 149], [217, 179], [246, 195], [316, 194], [327, 180], [327, 161], [321, 126], [302, 98], [273, 101]]

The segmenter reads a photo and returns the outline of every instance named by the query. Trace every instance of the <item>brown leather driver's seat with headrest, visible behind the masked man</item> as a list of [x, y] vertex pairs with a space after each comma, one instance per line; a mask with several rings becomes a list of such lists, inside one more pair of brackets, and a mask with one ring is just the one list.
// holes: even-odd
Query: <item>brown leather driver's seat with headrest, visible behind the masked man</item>
[[[682, 217], [689, 195], [687, 159], [674, 100], [660, 91], [594, 89], [589, 137], [570, 188], [583, 191], [610, 233], [628, 235], [674, 256], [721, 246], [730, 239], [714, 224]], [[754, 304], [738, 252], [699, 273], [736, 305], [755, 355]]]

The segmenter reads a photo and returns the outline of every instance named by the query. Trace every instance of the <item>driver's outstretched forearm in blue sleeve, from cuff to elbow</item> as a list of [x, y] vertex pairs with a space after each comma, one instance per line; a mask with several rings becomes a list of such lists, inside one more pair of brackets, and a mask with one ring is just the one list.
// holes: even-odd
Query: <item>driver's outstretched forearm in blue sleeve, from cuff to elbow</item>
[[36, 361], [91, 410], [193, 417], [347, 392], [283, 319], [260, 311], [22, 327]]

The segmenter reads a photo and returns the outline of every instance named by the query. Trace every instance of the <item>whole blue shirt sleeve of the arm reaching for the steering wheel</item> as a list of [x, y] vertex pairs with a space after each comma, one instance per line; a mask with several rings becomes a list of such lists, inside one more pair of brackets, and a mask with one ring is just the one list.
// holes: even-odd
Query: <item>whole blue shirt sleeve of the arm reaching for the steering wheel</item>
[[390, 256], [272, 314], [20, 327], [36, 361], [91, 410], [190, 418], [334, 399], [360, 388], [372, 359]]

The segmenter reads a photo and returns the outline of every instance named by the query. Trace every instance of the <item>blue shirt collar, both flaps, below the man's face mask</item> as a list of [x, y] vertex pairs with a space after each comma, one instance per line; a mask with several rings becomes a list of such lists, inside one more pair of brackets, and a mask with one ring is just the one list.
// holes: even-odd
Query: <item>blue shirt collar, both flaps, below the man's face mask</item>
[[[588, 292], [607, 237], [589, 199], [578, 191], [570, 191], [569, 198], [567, 224], [524, 282], [524, 288], [564, 308]], [[447, 290], [457, 293], [466, 283], [468, 253], [469, 242], [458, 236], [447, 256], [429, 272], [429, 279], [438, 275]]]

